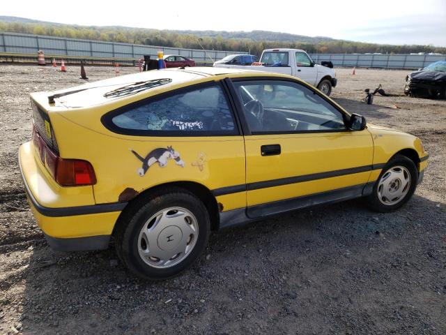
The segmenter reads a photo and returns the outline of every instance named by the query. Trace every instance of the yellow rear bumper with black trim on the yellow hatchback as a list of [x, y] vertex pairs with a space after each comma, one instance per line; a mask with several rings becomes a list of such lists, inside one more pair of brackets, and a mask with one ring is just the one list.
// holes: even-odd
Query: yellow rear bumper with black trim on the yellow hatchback
[[30, 142], [20, 147], [19, 166], [26, 198], [49, 246], [59, 251], [87, 251], [108, 247], [114, 224], [126, 202], [72, 207], [45, 206], [43, 201], [54, 198], [57, 200], [56, 204], [76, 203], [79, 196], [76, 192], [57, 193], [58, 189], [49, 185], [45, 172], [34, 159]]

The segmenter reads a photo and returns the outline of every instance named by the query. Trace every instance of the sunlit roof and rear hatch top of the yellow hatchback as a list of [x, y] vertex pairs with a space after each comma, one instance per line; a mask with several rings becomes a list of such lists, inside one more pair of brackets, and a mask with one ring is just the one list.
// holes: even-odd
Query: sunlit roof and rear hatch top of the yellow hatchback
[[[133, 101], [160, 94], [164, 91], [185, 87], [190, 84], [198, 84], [213, 80], [213, 77], [220, 75], [233, 75], [243, 73], [261, 73], [260, 71], [242, 70], [238, 68], [214, 68], [214, 67], [193, 67], [193, 68], [164, 68], [162, 70], [150, 70], [130, 75], [111, 77], [98, 82], [91, 82], [69, 89], [50, 92], [38, 92], [31, 94], [31, 97], [39, 105], [47, 110], [67, 110], [75, 108], [93, 107], [114, 101]], [[167, 79], [167, 80], [166, 80]], [[155, 85], [151, 88], [138, 91], [125, 96], [105, 96], [109, 92], [132, 84], [140, 84], [148, 81], [162, 80], [163, 84]], [[49, 96], [54, 97], [54, 102], [49, 104]]]

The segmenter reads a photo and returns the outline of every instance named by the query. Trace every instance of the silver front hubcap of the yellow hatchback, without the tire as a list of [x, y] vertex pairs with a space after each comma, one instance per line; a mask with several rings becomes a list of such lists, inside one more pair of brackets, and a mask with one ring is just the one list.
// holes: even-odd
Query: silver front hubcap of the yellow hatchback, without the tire
[[397, 204], [406, 196], [410, 188], [410, 173], [403, 166], [387, 170], [378, 184], [378, 198], [387, 205]]

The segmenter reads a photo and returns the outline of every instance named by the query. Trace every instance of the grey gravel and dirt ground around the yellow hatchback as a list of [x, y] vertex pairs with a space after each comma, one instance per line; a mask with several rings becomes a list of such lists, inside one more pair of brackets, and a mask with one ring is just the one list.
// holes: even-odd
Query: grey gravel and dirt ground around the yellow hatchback
[[406, 73], [337, 69], [333, 93], [422, 138], [430, 165], [405, 207], [376, 214], [356, 200], [217, 232], [192, 268], [146, 283], [113, 248], [52, 251], [26, 203], [17, 149], [31, 135], [28, 94], [81, 83], [79, 68], [0, 66], [0, 334], [446, 334], [446, 101], [360, 102], [378, 84], [402, 94]]

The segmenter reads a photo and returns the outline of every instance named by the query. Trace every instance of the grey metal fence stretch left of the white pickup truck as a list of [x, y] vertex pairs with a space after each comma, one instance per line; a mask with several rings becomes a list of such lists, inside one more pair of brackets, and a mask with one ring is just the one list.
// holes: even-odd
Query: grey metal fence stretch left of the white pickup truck
[[0, 52], [8, 54], [37, 54], [43, 50], [45, 54], [70, 57], [95, 57], [107, 59], [140, 59], [144, 54], [157, 56], [162, 50], [164, 54], [179, 54], [193, 58], [198, 63], [222, 59], [228, 54], [243, 52], [220, 50], [182, 49], [176, 47], [157, 47], [155, 45], [139, 45], [128, 43], [102, 42], [99, 40], [79, 40], [33, 34], [0, 32]]

